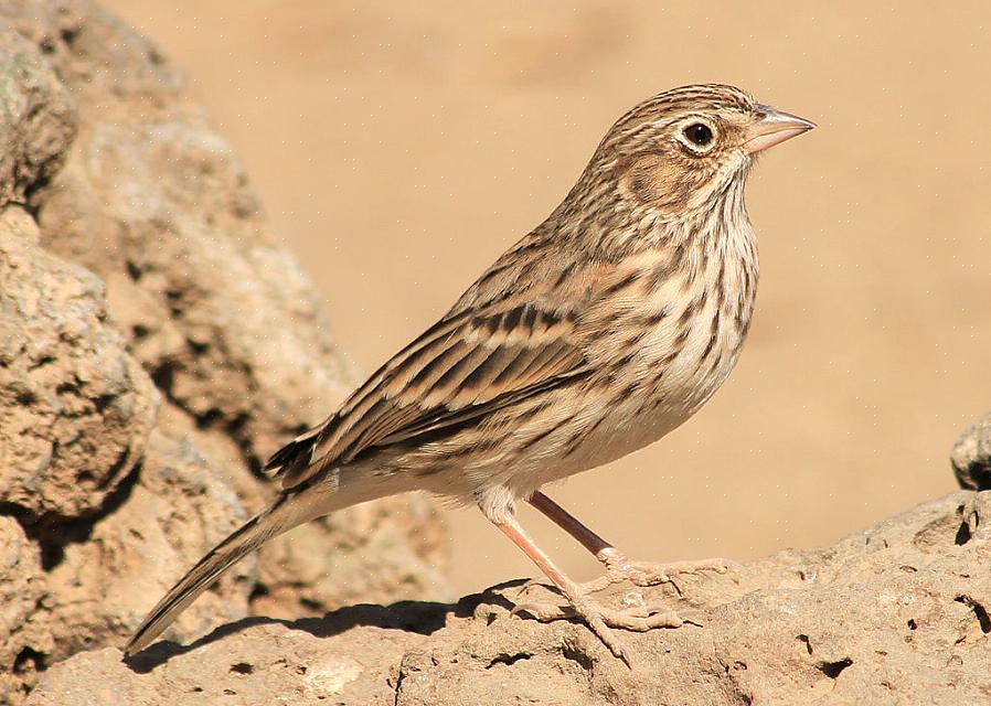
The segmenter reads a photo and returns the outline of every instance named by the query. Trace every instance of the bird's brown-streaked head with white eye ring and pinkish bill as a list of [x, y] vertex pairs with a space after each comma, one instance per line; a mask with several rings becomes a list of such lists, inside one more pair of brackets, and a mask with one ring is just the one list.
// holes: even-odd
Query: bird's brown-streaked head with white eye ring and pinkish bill
[[723, 195], [742, 200], [755, 156], [813, 127], [733, 86], [684, 86], [622, 116], [589, 168], [627, 207], [680, 218], [712, 208]]

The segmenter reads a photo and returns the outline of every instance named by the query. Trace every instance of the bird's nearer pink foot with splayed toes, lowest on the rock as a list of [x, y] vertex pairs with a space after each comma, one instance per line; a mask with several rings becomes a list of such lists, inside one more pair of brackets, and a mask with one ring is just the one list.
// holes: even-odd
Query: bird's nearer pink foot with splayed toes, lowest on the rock
[[680, 628], [689, 623], [702, 627], [692, 619], [691, 613], [678, 613], [662, 606], [644, 606], [627, 609], [612, 609], [582, 596], [571, 605], [557, 606], [554, 603], [520, 603], [510, 614], [525, 612], [541, 622], [555, 620], [579, 619], [598, 637], [609, 651], [632, 666], [630, 654], [622, 641], [612, 632], [612, 629], [630, 630], [633, 632], [647, 632], [656, 628]]

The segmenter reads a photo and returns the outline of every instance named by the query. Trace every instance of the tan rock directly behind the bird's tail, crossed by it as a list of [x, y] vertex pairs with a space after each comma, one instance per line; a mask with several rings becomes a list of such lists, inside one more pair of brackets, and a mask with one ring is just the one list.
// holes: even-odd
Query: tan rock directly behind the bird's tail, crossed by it
[[[121, 644], [149, 601], [164, 595], [177, 571], [192, 566], [247, 512], [188, 437], [157, 428], [128, 499], [87, 526], [84, 541], [62, 548], [49, 571], [42, 614], [50, 616], [50, 654]], [[248, 614], [256, 560], [238, 565], [183, 613], [171, 634], [190, 639], [217, 621]]]

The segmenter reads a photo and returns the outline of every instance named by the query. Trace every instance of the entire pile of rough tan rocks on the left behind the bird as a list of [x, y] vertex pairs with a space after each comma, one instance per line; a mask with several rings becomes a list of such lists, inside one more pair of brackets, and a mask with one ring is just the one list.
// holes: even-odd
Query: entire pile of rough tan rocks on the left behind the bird
[[[119, 644], [353, 384], [185, 78], [85, 0], [0, 2], [0, 703]], [[316, 548], [315, 548], [316, 547]], [[175, 625], [443, 593], [391, 499], [274, 542]], [[347, 571], [360, 581], [332, 580]]]

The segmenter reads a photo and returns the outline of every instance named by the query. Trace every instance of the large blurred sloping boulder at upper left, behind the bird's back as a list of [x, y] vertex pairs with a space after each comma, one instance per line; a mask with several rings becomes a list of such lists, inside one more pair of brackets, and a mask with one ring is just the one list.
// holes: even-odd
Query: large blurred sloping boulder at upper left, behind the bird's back
[[257, 469], [351, 392], [320, 297], [265, 233], [241, 162], [184, 77], [89, 3], [63, 4], [68, 39], [31, 32], [55, 38], [40, 41], [79, 116], [64, 169], [36, 196], [43, 244], [106, 280], [168, 399]]

